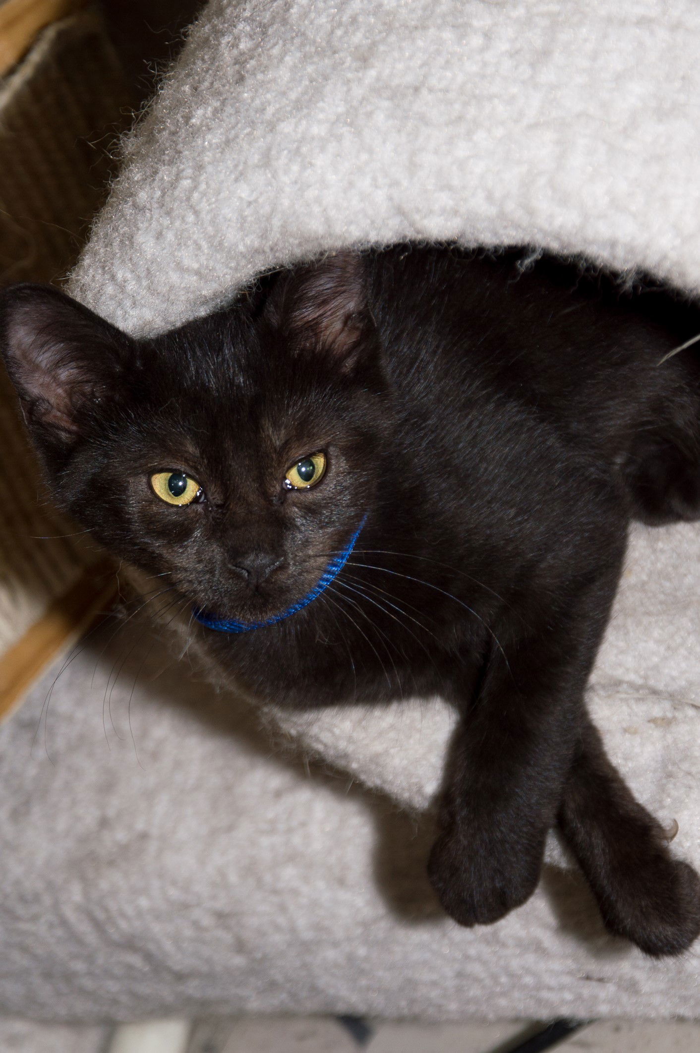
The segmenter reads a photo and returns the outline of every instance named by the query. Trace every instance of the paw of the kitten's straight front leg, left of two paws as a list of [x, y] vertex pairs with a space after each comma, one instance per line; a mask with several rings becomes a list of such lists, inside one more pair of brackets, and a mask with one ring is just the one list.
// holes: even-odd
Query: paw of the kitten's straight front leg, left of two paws
[[508, 845], [472, 842], [457, 831], [441, 834], [427, 863], [431, 885], [447, 914], [463, 926], [492, 925], [529, 899], [537, 888], [544, 838], [522, 853]]

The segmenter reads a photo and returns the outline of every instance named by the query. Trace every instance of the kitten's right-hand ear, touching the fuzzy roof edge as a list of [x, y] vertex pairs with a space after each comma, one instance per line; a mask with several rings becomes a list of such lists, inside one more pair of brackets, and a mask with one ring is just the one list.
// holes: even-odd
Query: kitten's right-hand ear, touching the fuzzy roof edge
[[376, 350], [360, 253], [333, 253], [284, 276], [263, 316], [295, 347], [332, 356], [344, 373]]

